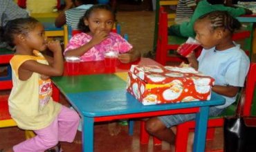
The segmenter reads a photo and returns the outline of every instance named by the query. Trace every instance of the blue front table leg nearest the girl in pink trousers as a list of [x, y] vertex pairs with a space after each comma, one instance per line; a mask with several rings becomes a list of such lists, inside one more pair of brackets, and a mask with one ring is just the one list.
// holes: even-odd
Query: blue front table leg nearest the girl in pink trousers
[[93, 151], [93, 117], [82, 117], [82, 151]]

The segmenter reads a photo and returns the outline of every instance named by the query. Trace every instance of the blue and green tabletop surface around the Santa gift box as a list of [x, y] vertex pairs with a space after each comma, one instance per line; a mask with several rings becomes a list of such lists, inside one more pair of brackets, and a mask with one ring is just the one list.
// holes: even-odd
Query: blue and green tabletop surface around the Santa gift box
[[72, 106], [86, 117], [214, 106], [225, 102], [221, 95], [212, 93], [209, 101], [144, 106], [127, 93], [126, 82], [114, 74], [54, 77], [53, 82]]

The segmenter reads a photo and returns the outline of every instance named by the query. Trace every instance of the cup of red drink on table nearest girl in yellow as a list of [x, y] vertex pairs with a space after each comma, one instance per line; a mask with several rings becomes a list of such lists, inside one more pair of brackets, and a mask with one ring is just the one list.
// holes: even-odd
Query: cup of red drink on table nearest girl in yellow
[[78, 75], [80, 70], [80, 57], [65, 57], [68, 75]]

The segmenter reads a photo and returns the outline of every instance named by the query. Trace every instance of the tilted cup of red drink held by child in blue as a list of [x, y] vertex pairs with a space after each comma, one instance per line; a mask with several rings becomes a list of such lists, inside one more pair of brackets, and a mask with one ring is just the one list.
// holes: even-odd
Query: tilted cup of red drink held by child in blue
[[200, 44], [198, 41], [189, 37], [188, 40], [185, 42], [185, 44], [183, 44], [181, 48], [179, 48], [179, 54], [182, 55], [183, 57], [186, 57], [199, 46]]

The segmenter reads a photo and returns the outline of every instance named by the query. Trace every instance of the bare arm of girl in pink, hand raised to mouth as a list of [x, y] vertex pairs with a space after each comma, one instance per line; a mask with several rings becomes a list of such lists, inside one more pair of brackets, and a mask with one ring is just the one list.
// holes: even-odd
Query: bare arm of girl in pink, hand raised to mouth
[[93, 46], [100, 44], [104, 39], [107, 39], [108, 33], [104, 32], [102, 30], [97, 30], [95, 32], [95, 35], [93, 35], [93, 38], [88, 43], [84, 44], [83, 46], [80, 46], [79, 48], [75, 48], [72, 50], [67, 50], [65, 53], [65, 56], [82, 56], [84, 53], [86, 53], [88, 50], [90, 50]]

